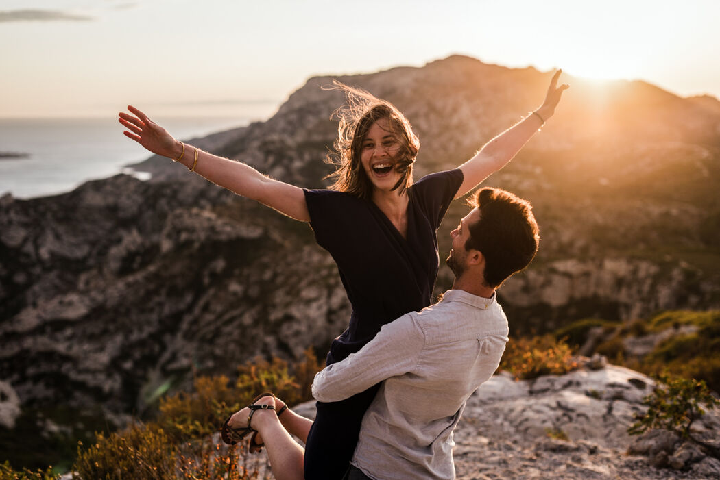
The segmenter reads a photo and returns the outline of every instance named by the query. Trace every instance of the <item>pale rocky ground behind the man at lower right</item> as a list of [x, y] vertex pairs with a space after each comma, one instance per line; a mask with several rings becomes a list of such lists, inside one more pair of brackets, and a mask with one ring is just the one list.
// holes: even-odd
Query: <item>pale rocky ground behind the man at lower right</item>
[[[455, 430], [457, 478], [717, 478], [720, 461], [672, 433], [627, 433], [653, 385], [613, 365], [534, 380], [495, 375], [470, 397]], [[314, 417], [315, 404], [293, 410]], [[693, 429], [719, 443], [720, 412]]]

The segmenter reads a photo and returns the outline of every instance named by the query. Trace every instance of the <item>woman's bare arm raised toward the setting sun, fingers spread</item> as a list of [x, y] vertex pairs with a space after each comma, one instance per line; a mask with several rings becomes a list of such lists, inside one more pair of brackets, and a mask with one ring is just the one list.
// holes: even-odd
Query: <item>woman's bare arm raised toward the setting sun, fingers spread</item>
[[555, 113], [555, 107], [560, 101], [562, 92], [568, 88], [567, 84], [557, 86], [560, 73], [562, 70], [557, 70], [552, 76], [545, 101], [539, 109], [487, 142], [480, 152], [460, 165], [464, 180], [455, 198], [462, 197], [493, 172], [507, 165], [544, 122]]

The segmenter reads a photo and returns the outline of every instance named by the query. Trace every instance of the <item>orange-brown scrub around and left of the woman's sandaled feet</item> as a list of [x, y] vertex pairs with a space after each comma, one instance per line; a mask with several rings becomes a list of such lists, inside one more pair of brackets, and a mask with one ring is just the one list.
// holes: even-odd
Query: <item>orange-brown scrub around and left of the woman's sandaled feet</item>
[[261, 392], [274, 392], [288, 405], [310, 400], [312, 379], [320, 369], [308, 349], [294, 364], [281, 359], [248, 362], [238, 368], [235, 382], [224, 376], [198, 377], [193, 392], [161, 399], [155, 422], [107, 437], [96, 434], [94, 446], [78, 449], [73, 478], [256, 479], [261, 457], [249, 455], [242, 443], [215, 443], [212, 434]]

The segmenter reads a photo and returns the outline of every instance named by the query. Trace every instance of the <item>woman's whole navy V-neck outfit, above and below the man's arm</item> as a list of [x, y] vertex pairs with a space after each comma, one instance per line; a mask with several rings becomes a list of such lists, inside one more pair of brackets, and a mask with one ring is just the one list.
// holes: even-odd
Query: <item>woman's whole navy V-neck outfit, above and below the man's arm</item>
[[[385, 323], [431, 304], [439, 264], [437, 229], [462, 180], [460, 170], [449, 170], [426, 175], [408, 189], [407, 238], [370, 200], [305, 190], [315, 239], [338, 265], [352, 306], [350, 326], [333, 340], [328, 365], [359, 351]], [[305, 446], [306, 480], [343, 477], [378, 388], [342, 402], [318, 402]]]

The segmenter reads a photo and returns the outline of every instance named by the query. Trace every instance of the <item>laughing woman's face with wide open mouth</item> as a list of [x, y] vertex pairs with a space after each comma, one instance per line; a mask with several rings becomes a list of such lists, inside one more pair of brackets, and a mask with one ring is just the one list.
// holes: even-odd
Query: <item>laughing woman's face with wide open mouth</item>
[[360, 160], [375, 189], [390, 191], [402, 177], [395, 170], [401, 148], [388, 119], [379, 119], [370, 126], [360, 146]]

